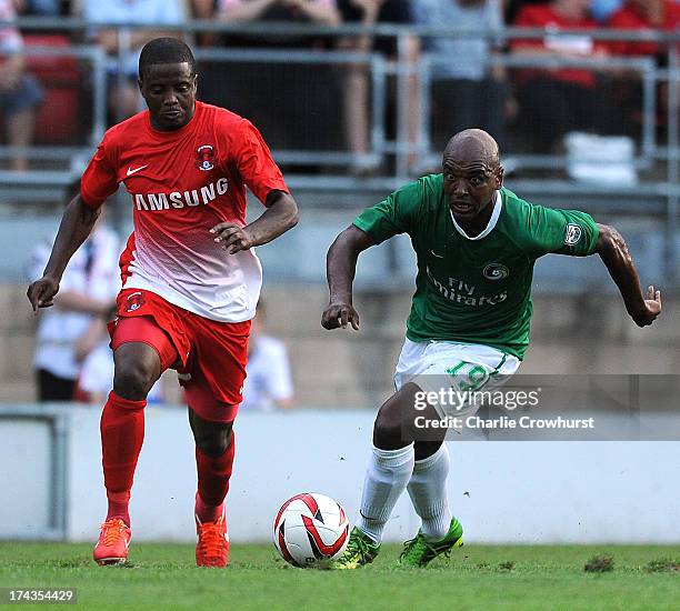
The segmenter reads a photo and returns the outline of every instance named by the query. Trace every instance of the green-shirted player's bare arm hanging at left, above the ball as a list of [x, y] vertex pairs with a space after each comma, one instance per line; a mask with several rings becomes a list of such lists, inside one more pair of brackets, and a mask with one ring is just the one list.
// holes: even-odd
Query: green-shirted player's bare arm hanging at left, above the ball
[[353, 224], [342, 231], [326, 257], [326, 276], [330, 299], [321, 317], [324, 329], [346, 329], [348, 323], [359, 329], [359, 314], [352, 307], [352, 281], [359, 253], [373, 246], [368, 233]]

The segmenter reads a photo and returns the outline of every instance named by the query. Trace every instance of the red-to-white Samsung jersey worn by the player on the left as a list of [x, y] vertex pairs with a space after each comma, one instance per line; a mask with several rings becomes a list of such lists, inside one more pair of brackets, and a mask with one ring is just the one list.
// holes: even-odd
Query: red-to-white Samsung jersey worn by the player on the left
[[211, 320], [254, 315], [262, 268], [253, 249], [228, 254], [210, 229], [246, 224], [246, 186], [264, 203], [288, 192], [258, 130], [228, 110], [196, 102], [189, 123], [151, 127], [149, 111], [112, 127], [81, 181], [97, 208], [123, 182], [134, 231], [120, 258], [123, 289], [144, 289]]

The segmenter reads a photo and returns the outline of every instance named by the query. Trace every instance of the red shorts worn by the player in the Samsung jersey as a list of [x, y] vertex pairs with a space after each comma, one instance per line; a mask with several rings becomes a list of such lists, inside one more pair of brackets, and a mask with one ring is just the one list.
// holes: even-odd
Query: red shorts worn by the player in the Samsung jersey
[[201, 418], [231, 422], [242, 400], [250, 321], [218, 322], [169, 303], [150, 291], [124, 289], [111, 348], [139, 341], [159, 354], [161, 370], [178, 370], [187, 402]]

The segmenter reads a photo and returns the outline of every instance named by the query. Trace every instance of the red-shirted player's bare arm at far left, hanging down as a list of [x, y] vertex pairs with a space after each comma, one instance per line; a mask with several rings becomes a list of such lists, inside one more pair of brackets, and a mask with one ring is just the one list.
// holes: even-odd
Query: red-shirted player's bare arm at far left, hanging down
[[42, 278], [32, 282], [27, 291], [36, 314], [40, 308], [49, 308], [54, 304], [54, 296], [59, 291], [63, 270], [73, 253], [88, 239], [100, 213], [101, 208], [90, 208], [82, 201], [80, 194], [76, 196], [66, 207]]

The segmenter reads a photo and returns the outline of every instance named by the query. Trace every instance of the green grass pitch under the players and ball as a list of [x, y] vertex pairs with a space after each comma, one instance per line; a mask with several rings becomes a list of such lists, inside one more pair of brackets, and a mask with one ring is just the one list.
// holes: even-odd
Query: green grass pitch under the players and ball
[[[0, 543], [0, 587], [77, 588], [77, 607], [97, 610], [630, 611], [680, 604], [678, 545], [468, 545], [411, 570], [394, 568], [399, 548], [384, 545], [373, 565], [342, 572], [293, 569], [269, 545], [233, 545], [226, 570], [196, 568], [191, 545], [133, 543], [128, 568], [99, 568], [91, 550]], [[583, 570], [604, 555], [613, 559], [611, 571]]]

